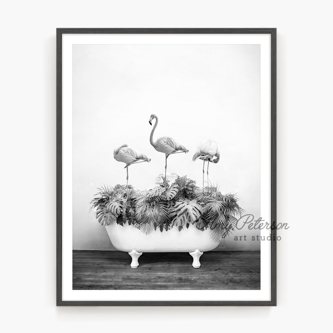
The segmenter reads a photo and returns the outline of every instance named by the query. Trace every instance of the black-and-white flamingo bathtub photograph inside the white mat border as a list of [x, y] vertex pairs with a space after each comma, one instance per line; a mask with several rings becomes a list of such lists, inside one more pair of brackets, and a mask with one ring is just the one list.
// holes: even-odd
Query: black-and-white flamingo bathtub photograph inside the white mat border
[[74, 290], [260, 289], [245, 214], [260, 45], [73, 45]]

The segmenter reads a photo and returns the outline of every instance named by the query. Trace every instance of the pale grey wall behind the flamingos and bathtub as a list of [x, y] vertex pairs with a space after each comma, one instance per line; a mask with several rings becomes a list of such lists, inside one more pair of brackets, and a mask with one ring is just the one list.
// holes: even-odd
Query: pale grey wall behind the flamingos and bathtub
[[[170, 136], [189, 154], [168, 159], [168, 172], [202, 182], [202, 162], [191, 162], [201, 140], [221, 152], [209, 176], [225, 193], [238, 193], [247, 213], [260, 217], [259, 45], [73, 46], [73, 249], [113, 250], [105, 227], [89, 212], [102, 184], [126, 183], [113, 150], [127, 143], [151, 163], [129, 168], [129, 183], [150, 188], [164, 172], [165, 155], [150, 145]], [[247, 235], [247, 241], [234, 236]], [[233, 233], [217, 249], [257, 250], [258, 231]]]

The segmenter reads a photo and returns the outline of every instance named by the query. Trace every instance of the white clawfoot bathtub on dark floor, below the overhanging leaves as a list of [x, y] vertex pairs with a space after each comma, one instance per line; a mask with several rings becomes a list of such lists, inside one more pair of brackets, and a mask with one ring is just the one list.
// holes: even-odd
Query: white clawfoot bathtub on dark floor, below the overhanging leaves
[[161, 232], [159, 229], [149, 235], [126, 223], [124, 226], [111, 223], [106, 230], [113, 246], [132, 257], [132, 268], [139, 266], [138, 259], [143, 252], [189, 252], [193, 257], [192, 266], [200, 267], [199, 258], [203, 252], [214, 249], [218, 243], [211, 239], [210, 230], [198, 230], [192, 224], [183, 230], [178, 227]]

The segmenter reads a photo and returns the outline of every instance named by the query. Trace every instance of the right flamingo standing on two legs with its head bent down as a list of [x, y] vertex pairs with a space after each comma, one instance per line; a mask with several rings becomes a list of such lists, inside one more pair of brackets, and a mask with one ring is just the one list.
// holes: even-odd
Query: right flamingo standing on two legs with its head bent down
[[[213, 157], [216, 159], [212, 160]], [[202, 194], [204, 194], [204, 173], [205, 173], [205, 162], [208, 162], [207, 165], [207, 184], [208, 184], [208, 192], [209, 193], [209, 180], [208, 180], [208, 167], [209, 162], [217, 163], [220, 160], [220, 152], [217, 150], [217, 144], [214, 140], [203, 140], [199, 143], [196, 148], [196, 152], [193, 155], [192, 162], [200, 159], [203, 161], [203, 169], [202, 169]]]

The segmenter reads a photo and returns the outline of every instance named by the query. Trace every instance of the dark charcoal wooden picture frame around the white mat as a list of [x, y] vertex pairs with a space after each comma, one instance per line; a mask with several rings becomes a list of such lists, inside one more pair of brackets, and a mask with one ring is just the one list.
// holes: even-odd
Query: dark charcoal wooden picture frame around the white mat
[[271, 230], [270, 301], [63, 301], [62, 300], [62, 35], [63, 34], [270, 34], [271, 222], [276, 225], [276, 28], [58, 28], [57, 29], [57, 306], [276, 306], [276, 229]]

